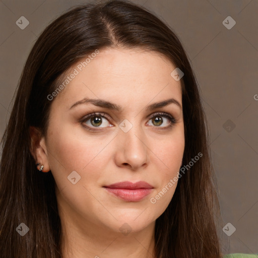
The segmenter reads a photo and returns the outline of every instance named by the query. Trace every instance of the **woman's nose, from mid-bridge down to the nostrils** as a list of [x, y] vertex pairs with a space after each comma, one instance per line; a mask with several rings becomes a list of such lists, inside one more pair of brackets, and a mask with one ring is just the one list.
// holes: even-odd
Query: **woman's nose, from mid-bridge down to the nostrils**
[[119, 130], [116, 138], [115, 162], [119, 167], [135, 171], [148, 164], [147, 139], [140, 126], [133, 126], [127, 133]]

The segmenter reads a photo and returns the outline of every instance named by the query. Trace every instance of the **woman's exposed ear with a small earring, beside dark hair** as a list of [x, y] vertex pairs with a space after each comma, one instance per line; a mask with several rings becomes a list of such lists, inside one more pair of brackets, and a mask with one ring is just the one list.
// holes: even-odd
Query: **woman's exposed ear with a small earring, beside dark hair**
[[35, 126], [30, 126], [30, 152], [35, 159], [35, 164], [40, 163], [37, 168], [39, 170], [40, 166], [44, 165], [42, 172], [48, 172], [50, 170], [48, 155], [46, 149], [45, 138], [42, 136], [41, 132]]

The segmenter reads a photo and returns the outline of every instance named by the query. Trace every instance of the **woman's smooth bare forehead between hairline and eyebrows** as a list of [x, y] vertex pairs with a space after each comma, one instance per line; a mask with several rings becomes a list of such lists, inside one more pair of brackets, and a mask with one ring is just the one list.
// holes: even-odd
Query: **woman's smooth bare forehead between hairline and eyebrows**
[[62, 77], [59, 84], [64, 87], [56, 101], [72, 103], [84, 97], [117, 96], [120, 103], [125, 99], [131, 99], [132, 103], [143, 97], [150, 101], [170, 95], [180, 102], [180, 81], [170, 75], [175, 68], [168, 58], [154, 51], [115, 48], [92, 51]]

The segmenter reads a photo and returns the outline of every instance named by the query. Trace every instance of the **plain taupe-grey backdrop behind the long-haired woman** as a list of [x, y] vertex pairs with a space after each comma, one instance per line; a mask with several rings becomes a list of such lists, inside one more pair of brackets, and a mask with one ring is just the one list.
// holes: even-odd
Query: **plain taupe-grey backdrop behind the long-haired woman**
[[[0, 137], [29, 51], [68, 8], [88, 1], [0, 1]], [[219, 184], [223, 252], [258, 253], [258, 1], [132, 1], [167, 22], [180, 38], [202, 89]], [[20, 29], [24, 16], [29, 25]], [[236, 24], [227, 29], [231, 16]], [[230, 21], [226, 23], [232, 24]], [[255, 100], [256, 99], [256, 100]], [[227, 232], [232, 230], [229, 225]]]

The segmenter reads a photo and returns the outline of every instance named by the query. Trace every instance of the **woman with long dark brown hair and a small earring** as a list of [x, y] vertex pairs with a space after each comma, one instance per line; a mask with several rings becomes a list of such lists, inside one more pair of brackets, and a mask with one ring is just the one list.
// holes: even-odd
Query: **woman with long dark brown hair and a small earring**
[[63, 14], [3, 137], [1, 257], [222, 257], [208, 140], [167, 25], [120, 1]]

